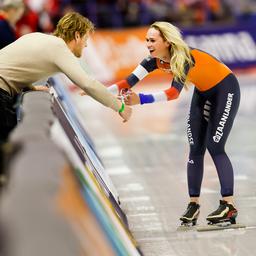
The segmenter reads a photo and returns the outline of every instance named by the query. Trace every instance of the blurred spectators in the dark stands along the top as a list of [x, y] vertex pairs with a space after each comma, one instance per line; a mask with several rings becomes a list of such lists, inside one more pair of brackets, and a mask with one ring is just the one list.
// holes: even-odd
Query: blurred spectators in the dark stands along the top
[[198, 27], [253, 22], [254, 0], [25, 0], [25, 13], [17, 34], [51, 32], [58, 19], [78, 11], [97, 28], [127, 28], [149, 25], [156, 20], [178, 26]]

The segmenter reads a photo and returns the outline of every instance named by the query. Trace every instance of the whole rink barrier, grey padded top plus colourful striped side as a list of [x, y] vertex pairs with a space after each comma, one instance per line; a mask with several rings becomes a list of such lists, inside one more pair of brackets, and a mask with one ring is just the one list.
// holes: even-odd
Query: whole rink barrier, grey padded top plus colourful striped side
[[[94, 151], [81, 160], [59, 121], [63, 117], [56, 111], [57, 101], [72, 130], [74, 120], [67, 117], [64, 98], [59, 101], [56, 92], [27, 92], [20, 100], [20, 123], [4, 147], [7, 182], [1, 191], [0, 254], [141, 255], [119, 203], [91, 170]], [[74, 134], [76, 141], [83, 136]], [[68, 151], [54, 136], [66, 142]]]

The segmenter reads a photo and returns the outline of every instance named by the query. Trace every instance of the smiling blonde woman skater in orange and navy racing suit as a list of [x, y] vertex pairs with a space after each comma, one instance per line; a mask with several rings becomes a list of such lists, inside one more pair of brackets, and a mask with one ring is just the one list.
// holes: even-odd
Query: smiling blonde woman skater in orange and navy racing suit
[[208, 215], [207, 220], [210, 223], [235, 223], [237, 210], [233, 203], [233, 168], [224, 148], [239, 107], [238, 81], [232, 71], [219, 60], [203, 51], [189, 48], [179, 29], [168, 22], [152, 24], [146, 35], [146, 44], [150, 56], [127, 79], [110, 86], [109, 90], [118, 93], [122, 89], [131, 89], [155, 69], [173, 74], [171, 87], [151, 94], [130, 91], [126, 94], [128, 105], [173, 100], [178, 98], [183, 87], [188, 88], [189, 83], [194, 84], [187, 126], [190, 202], [180, 220], [184, 225], [195, 225], [197, 222], [207, 148], [218, 172], [222, 195], [219, 207]]

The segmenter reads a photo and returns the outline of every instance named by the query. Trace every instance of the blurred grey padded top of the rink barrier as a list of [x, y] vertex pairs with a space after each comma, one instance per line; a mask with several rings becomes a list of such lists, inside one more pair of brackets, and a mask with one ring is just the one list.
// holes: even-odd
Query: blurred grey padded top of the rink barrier
[[1, 255], [79, 255], [71, 225], [56, 211], [55, 195], [67, 160], [49, 137], [54, 118], [48, 93], [24, 94], [22, 121], [5, 145], [8, 182], [1, 191]]

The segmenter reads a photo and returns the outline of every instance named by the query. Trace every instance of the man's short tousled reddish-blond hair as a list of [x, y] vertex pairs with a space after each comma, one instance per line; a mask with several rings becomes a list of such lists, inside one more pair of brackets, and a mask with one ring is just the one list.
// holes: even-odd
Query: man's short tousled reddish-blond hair
[[70, 12], [64, 15], [58, 22], [53, 35], [62, 38], [65, 42], [70, 42], [75, 38], [75, 32], [80, 36], [94, 30], [93, 23], [77, 12]]

